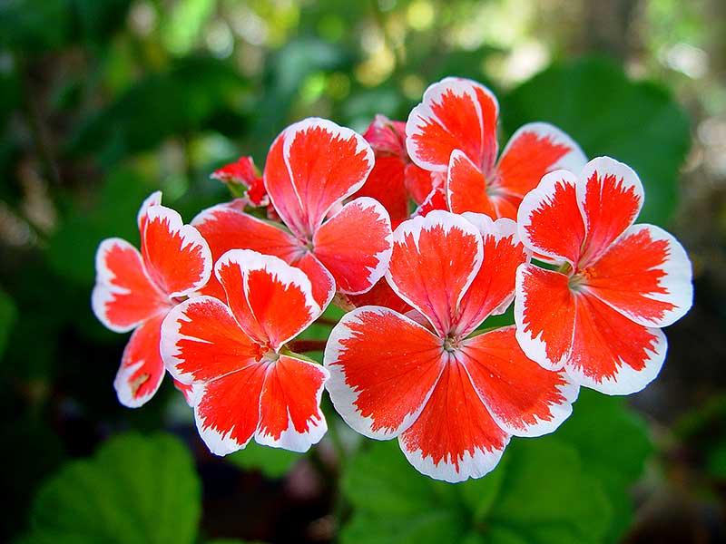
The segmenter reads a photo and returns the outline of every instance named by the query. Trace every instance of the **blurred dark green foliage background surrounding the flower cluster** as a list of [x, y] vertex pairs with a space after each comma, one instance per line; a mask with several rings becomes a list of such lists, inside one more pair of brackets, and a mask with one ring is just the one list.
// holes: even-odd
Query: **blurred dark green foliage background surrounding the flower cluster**
[[[121, 406], [127, 335], [90, 307], [99, 242], [138, 244], [155, 189], [187, 221], [230, 199], [211, 171], [262, 167], [292, 121], [405, 121], [447, 75], [496, 93], [500, 144], [550, 121], [639, 173], [639, 222], [671, 230], [694, 269], [661, 376], [627, 399], [583, 392], [560, 431], [456, 486], [359, 440], [327, 399], [309, 454], [224, 459], [170, 380]], [[721, 0], [0, 2], [0, 539], [726, 540], [724, 80]]]

